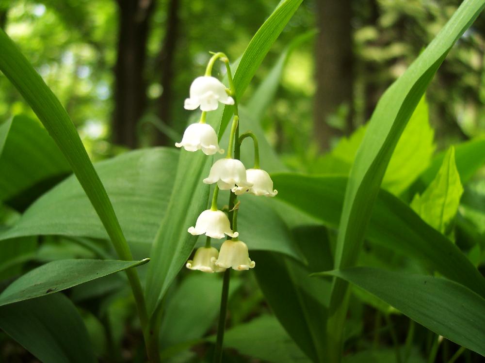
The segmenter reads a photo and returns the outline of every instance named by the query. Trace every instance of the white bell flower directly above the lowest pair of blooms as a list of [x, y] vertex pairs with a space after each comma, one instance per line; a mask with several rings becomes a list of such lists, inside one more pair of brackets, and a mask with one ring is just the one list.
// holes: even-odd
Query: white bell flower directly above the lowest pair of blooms
[[203, 235], [212, 238], [224, 238], [224, 234], [230, 237], [238, 237], [238, 232], [233, 232], [229, 219], [221, 210], [204, 210], [200, 213], [195, 227], [190, 227], [187, 230], [191, 235]]

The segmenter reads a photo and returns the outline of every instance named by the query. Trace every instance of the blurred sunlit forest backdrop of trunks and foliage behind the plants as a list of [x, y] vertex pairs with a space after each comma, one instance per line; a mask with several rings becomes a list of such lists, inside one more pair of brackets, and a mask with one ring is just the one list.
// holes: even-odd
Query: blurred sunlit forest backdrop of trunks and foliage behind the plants
[[[183, 100], [208, 50], [236, 60], [275, 3], [2, 0], [0, 26], [59, 96], [97, 159], [116, 153], [113, 145], [172, 145], [188, 121]], [[318, 30], [292, 51], [263, 120], [288, 166], [311, 170], [322, 150], [365, 124], [459, 3], [305, 1], [253, 82], [264, 79], [291, 39]], [[438, 148], [484, 132], [484, 30], [479, 18], [427, 92]], [[31, 111], [0, 76], [2, 118], [19, 112]]]

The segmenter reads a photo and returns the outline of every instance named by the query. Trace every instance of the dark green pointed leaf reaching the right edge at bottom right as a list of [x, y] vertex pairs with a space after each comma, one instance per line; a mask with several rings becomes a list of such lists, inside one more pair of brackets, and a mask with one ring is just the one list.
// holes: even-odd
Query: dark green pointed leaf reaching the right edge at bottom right
[[453, 281], [375, 268], [324, 272], [369, 291], [438, 335], [485, 356], [485, 299]]

